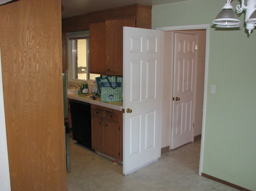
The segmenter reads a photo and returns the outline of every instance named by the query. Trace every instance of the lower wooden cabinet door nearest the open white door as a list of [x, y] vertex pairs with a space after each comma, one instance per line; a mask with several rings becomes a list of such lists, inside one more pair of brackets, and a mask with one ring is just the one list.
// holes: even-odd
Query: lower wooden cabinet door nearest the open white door
[[119, 124], [104, 121], [104, 153], [114, 159], [118, 159]]

